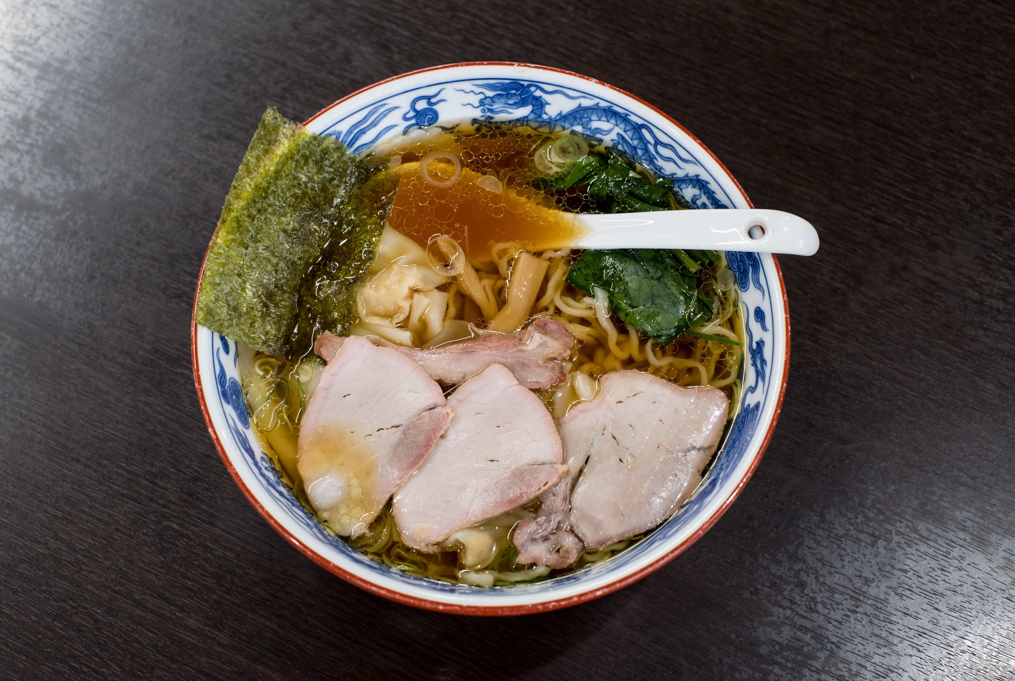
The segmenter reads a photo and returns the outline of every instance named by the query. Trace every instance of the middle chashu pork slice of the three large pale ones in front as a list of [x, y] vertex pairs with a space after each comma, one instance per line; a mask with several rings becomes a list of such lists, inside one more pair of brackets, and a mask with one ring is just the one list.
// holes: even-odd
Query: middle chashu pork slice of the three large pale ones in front
[[392, 500], [402, 541], [422, 551], [531, 502], [567, 472], [549, 411], [505, 367], [489, 365], [448, 405], [448, 433]]

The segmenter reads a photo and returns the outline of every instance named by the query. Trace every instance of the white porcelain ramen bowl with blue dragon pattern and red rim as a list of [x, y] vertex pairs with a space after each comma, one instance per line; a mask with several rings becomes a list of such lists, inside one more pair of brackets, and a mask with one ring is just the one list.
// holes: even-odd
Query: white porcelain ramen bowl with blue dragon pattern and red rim
[[[361, 153], [416, 127], [472, 120], [576, 129], [673, 177], [698, 209], [751, 207], [726, 167], [676, 121], [606, 83], [557, 69], [499, 62], [425, 69], [359, 90], [304, 125]], [[741, 404], [715, 465], [697, 494], [644, 541], [546, 582], [481, 588], [425, 580], [370, 560], [330, 534], [258, 448], [240, 389], [235, 344], [194, 324], [198, 396], [222, 460], [254, 507], [296, 548], [343, 580], [395, 601], [461, 614], [523, 614], [573, 605], [639, 580], [686, 549], [733, 503], [768, 444], [790, 358], [786, 291], [773, 256], [729, 252], [727, 259], [737, 275], [748, 353]]]

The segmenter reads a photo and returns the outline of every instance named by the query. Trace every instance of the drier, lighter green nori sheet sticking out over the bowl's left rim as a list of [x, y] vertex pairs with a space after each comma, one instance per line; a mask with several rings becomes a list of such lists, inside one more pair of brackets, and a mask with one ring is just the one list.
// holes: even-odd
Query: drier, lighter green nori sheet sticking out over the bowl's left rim
[[[363, 221], [358, 187], [364, 172], [334, 138], [309, 133], [275, 107], [265, 111], [222, 207], [198, 294], [197, 322], [256, 350], [288, 356], [309, 271], [320, 264], [330, 243], [336, 244], [330, 249], [334, 257], [353, 255], [341, 251], [342, 239], [335, 237], [356, 234]], [[365, 222], [366, 232], [377, 231], [375, 220]], [[358, 252], [358, 260], [373, 258], [371, 250]], [[369, 259], [360, 262], [359, 270], [368, 264]]]

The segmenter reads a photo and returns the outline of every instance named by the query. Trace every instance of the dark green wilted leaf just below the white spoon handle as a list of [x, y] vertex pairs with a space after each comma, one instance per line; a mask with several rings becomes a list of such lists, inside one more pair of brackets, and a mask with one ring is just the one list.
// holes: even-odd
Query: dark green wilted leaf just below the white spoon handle
[[594, 287], [603, 289], [618, 317], [664, 346], [713, 315], [698, 279], [681, 272], [668, 250], [587, 250], [566, 281], [590, 294]]

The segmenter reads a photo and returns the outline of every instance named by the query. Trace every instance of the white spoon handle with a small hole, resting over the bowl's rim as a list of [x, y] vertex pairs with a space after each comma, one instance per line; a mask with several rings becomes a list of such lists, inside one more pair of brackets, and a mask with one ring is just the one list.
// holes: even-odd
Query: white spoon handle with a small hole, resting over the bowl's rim
[[813, 255], [818, 233], [783, 211], [719, 209], [579, 216], [579, 248], [695, 248]]

